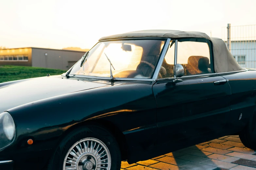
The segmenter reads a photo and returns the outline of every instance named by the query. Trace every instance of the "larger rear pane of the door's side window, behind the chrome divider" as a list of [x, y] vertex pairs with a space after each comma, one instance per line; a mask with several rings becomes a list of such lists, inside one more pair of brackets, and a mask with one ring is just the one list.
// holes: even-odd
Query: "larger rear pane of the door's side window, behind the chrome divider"
[[184, 76], [213, 73], [210, 48], [206, 40], [179, 41], [181, 42], [178, 42], [177, 63], [184, 67]]

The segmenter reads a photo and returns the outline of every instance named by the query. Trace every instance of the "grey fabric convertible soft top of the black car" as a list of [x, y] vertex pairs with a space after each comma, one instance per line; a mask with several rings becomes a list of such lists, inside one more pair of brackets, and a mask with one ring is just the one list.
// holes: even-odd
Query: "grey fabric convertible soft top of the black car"
[[[225, 42], [220, 38], [209, 37], [205, 33], [178, 30], [142, 30], [124, 34], [105, 36], [99, 39], [135, 38], [135, 37], [161, 37], [161, 38], [206, 38], [213, 43], [213, 58], [215, 73], [244, 70], [234, 59]], [[179, 48], [178, 48], [179, 53]]]

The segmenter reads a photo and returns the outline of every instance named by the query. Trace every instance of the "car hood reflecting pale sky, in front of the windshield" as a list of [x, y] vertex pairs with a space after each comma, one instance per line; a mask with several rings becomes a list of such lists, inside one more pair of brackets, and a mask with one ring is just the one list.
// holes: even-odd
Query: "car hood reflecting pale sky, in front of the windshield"
[[77, 80], [49, 76], [0, 83], [0, 113], [37, 100], [108, 85]]

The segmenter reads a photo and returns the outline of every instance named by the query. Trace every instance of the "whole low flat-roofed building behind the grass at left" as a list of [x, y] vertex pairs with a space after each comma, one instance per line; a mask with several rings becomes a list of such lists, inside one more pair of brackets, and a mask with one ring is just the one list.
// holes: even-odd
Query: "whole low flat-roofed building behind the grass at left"
[[84, 51], [43, 48], [19, 48], [0, 50], [0, 65], [22, 65], [68, 70]]

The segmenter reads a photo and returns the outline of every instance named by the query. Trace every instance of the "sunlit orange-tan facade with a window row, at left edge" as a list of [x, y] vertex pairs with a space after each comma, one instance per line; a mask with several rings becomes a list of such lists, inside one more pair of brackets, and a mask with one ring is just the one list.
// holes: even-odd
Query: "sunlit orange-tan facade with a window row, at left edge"
[[[16, 57], [17, 60], [1, 60], [2, 58]], [[28, 57], [28, 60], [19, 60], [19, 57]], [[32, 49], [5, 49], [0, 50], [0, 65], [22, 65], [32, 66]]]

